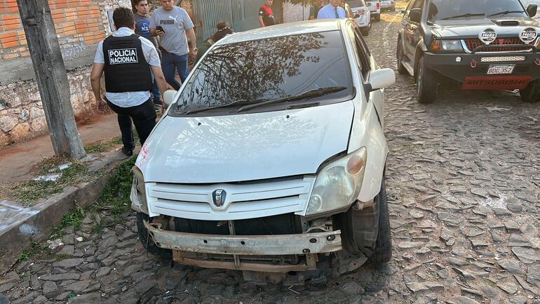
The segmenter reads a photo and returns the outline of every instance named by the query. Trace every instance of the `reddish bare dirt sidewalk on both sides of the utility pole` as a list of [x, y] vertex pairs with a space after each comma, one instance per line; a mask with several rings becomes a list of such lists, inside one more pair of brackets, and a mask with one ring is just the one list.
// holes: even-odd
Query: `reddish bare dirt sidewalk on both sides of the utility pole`
[[[88, 124], [79, 126], [84, 145], [120, 136], [116, 114], [96, 114]], [[53, 157], [53, 145], [48, 135], [39, 136], [0, 150], [0, 183], [27, 180], [32, 167], [43, 158]]]

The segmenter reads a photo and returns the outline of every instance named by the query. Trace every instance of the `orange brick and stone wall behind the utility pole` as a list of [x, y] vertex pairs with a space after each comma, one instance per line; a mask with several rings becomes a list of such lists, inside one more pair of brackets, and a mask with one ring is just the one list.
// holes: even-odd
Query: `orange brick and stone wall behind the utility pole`
[[[48, 0], [78, 119], [93, 114], [90, 70], [97, 42], [110, 34], [107, 11], [130, 0]], [[43, 105], [16, 0], [0, 1], [0, 146], [46, 133]]]

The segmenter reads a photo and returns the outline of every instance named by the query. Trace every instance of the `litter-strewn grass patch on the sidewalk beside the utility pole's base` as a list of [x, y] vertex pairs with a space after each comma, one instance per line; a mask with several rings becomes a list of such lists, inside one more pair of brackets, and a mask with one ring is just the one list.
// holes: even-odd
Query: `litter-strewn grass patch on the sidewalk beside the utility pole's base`
[[[59, 164], [71, 162], [69, 168], [60, 171]], [[35, 166], [37, 176], [45, 174], [62, 173], [57, 180], [27, 180], [11, 187], [7, 193], [8, 199], [18, 201], [25, 206], [34, 204], [38, 199], [49, 197], [52, 194], [62, 192], [67, 185], [73, 185], [81, 176], [88, 172], [88, 166], [81, 161], [62, 157], [45, 159]]]

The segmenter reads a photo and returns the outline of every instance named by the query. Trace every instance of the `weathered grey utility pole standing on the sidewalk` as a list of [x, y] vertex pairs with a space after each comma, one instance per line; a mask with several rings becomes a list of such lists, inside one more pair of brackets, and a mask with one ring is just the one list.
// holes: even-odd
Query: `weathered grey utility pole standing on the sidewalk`
[[75, 123], [67, 73], [47, 0], [17, 0], [57, 156], [86, 156]]

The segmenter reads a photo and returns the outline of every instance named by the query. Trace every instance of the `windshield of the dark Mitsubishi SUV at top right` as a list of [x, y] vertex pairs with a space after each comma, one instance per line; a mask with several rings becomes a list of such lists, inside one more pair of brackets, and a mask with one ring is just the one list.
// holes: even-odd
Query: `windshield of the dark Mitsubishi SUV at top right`
[[431, 0], [428, 20], [527, 17], [519, 0]]

